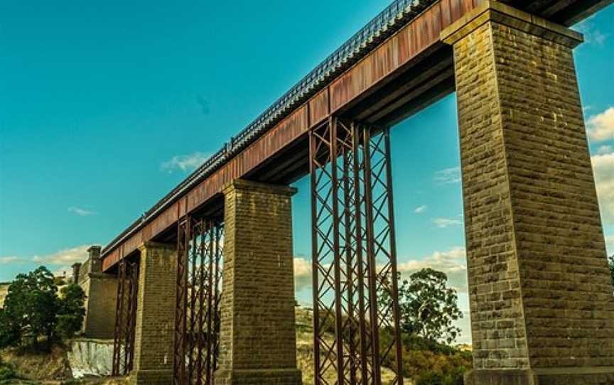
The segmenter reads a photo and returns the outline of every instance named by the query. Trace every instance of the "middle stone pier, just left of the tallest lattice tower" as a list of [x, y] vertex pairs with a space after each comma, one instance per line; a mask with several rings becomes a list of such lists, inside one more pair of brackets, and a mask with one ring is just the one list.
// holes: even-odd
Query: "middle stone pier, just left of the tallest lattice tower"
[[215, 384], [301, 384], [296, 369], [291, 195], [235, 180], [225, 190], [220, 369]]

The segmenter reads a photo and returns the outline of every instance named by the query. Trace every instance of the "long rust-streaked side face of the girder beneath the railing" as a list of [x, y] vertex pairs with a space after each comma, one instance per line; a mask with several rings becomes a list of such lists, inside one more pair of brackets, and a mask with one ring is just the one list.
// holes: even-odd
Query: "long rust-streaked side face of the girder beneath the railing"
[[[436, 3], [436, 6], [438, 9], [441, 8], [439, 3]], [[330, 82], [330, 85], [324, 87], [323, 91], [313, 95], [307, 102], [297, 107], [293, 113], [279, 121], [272, 129], [251, 143], [237, 156], [225, 161], [223, 166], [185, 193], [184, 198], [182, 198], [185, 200], [183, 207], [181, 205], [178, 207], [178, 202], [181, 202], [181, 200], [178, 200], [173, 205], [161, 210], [146, 224], [134, 224], [134, 229], [128, 232], [129, 235], [124, 236], [125, 238], [121, 242], [116, 241], [103, 250], [103, 269], [109, 269], [124, 256], [134, 252], [139, 244], [152, 239], [156, 234], [160, 234], [168, 227], [176, 224], [179, 215], [185, 215], [186, 212], [191, 212], [203, 205], [207, 200], [219, 194], [224, 185], [236, 178], [241, 178], [250, 170], [259, 166], [260, 163], [288, 146], [289, 143], [306, 134], [313, 124], [325, 119], [335, 109], [367, 92], [370, 87], [374, 87], [384, 77], [405, 65], [411, 58], [416, 57], [421, 49], [428, 48], [429, 44], [437, 43], [439, 32], [437, 28], [441, 30], [443, 23], [440, 21], [433, 22], [432, 19], [441, 18], [441, 11], [431, 11], [431, 9], [416, 16], [400, 31], [385, 40], [377, 49], [338, 77], [337, 80]], [[429, 28], [428, 38], [422, 37], [423, 33], [416, 32], [422, 31], [424, 26], [429, 25], [433, 27]], [[411, 45], [410, 41], [413, 40], [419, 43]], [[329, 97], [330, 100], [328, 100]]]

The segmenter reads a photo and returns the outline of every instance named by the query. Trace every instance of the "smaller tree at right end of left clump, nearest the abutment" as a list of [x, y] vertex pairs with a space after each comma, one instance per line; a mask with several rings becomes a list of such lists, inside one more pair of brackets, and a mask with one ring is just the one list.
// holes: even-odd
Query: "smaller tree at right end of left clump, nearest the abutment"
[[85, 292], [79, 285], [68, 285], [60, 291], [56, 330], [63, 338], [70, 338], [81, 330], [85, 318]]

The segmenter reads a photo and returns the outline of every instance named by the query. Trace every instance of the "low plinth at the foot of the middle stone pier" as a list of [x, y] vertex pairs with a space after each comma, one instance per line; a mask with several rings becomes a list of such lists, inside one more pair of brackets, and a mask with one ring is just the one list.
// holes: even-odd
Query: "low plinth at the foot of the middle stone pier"
[[298, 369], [220, 369], [215, 372], [215, 385], [302, 385]]

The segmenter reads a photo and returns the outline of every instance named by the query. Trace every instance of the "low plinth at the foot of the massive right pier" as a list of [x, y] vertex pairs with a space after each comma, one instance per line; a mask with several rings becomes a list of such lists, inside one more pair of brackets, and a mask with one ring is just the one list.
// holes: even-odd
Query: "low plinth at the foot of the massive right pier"
[[472, 370], [465, 385], [610, 385], [614, 367]]

